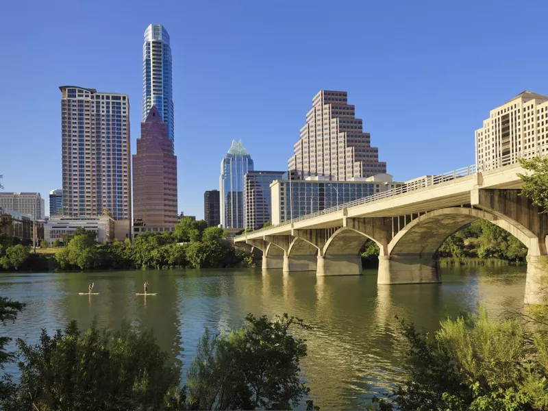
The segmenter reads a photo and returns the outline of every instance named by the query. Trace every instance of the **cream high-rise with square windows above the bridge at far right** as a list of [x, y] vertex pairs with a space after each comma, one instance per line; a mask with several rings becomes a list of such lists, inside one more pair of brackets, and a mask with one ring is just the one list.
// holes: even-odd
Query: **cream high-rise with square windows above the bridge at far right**
[[548, 97], [525, 90], [490, 111], [475, 131], [478, 171], [512, 164], [518, 158], [546, 155], [548, 150]]

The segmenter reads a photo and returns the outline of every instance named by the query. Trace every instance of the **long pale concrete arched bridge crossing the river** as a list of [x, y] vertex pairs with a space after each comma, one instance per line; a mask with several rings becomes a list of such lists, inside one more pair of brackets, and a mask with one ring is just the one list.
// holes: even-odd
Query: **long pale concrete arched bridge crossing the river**
[[477, 219], [510, 232], [529, 250], [525, 299], [543, 299], [548, 273], [548, 215], [519, 195], [519, 164], [476, 172], [469, 166], [425, 177], [351, 203], [234, 238], [262, 250], [263, 269], [360, 275], [366, 239], [380, 249], [378, 284], [441, 282], [438, 248]]

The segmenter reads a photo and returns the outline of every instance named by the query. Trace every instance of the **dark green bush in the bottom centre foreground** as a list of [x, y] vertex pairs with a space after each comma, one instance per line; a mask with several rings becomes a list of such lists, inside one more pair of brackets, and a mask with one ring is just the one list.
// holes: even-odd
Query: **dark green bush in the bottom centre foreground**
[[245, 320], [229, 334], [214, 336], [206, 329], [187, 374], [190, 408], [287, 410], [309, 393], [299, 380], [306, 343], [289, 329], [310, 326], [288, 314], [275, 321], [248, 314]]

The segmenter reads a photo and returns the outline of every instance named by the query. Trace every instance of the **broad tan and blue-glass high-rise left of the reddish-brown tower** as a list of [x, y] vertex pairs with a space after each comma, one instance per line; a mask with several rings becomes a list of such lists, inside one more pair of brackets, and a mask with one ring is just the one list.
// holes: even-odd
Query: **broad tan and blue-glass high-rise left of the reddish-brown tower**
[[112, 215], [115, 236], [131, 235], [127, 95], [61, 86], [63, 215]]

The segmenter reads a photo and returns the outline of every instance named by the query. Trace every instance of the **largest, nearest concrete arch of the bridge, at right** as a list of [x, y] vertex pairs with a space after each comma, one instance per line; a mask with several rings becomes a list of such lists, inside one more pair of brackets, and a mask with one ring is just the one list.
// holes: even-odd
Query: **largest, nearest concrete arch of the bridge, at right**
[[541, 255], [538, 236], [507, 216], [478, 208], [451, 207], [427, 212], [408, 223], [388, 243], [388, 256], [433, 256], [447, 237], [478, 219], [512, 234], [529, 249], [530, 256]]

